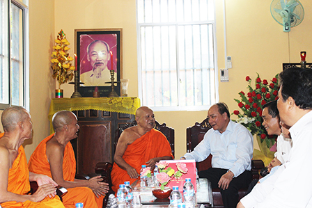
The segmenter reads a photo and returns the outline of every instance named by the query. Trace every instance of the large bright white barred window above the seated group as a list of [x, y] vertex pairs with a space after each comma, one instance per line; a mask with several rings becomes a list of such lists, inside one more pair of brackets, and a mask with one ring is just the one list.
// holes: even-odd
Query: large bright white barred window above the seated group
[[213, 0], [137, 0], [139, 97], [154, 111], [217, 100]]

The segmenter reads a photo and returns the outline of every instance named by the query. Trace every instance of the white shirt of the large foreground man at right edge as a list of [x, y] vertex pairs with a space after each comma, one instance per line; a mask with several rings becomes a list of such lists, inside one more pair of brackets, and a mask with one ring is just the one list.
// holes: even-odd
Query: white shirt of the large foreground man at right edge
[[242, 198], [249, 207], [312, 207], [312, 111], [290, 128], [292, 149], [286, 163]]

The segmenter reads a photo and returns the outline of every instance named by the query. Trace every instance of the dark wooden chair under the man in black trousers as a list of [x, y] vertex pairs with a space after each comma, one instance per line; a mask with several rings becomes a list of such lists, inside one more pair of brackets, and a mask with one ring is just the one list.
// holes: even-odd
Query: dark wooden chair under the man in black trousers
[[[209, 125], [208, 118], [205, 118], [203, 122], [196, 122], [194, 126], [187, 128], [187, 152], [192, 152], [194, 147], [198, 145], [203, 140], [203, 136], [205, 133], [211, 129], [212, 127]], [[199, 171], [208, 170], [211, 167], [211, 159], [212, 155], [201, 161], [196, 163], [196, 168]], [[259, 171], [264, 168], [264, 163], [261, 160], [251, 160], [251, 173], [253, 179], [259, 179]], [[243, 198], [244, 195], [247, 194], [247, 188], [240, 189], [238, 191], [239, 198]], [[222, 202], [222, 196], [219, 189], [212, 189], [212, 198], [214, 207], [221, 208], [224, 207]]]

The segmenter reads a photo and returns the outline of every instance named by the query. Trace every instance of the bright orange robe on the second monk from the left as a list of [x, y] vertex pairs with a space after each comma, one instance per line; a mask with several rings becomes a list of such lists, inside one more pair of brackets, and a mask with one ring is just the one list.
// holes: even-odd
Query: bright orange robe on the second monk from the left
[[[29, 159], [29, 171], [33, 173], [47, 175], [52, 177], [50, 164], [47, 161], [46, 154], [46, 143], [49, 141], [54, 134], [51, 134], [45, 138], [36, 147], [36, 150], [31, 154], [31, 159]], [[73, 182], [76, 174], [76, 159], [74, 150], [72, 150], [72, 144], [69, 142], [65, 146], [64, 156], [63, 156], [63, 178], [65, 181]], [[102, 207], [104, 196], [96, 198], [95, 194], [88, 187], [77, 187], [72, 189], [67, 189], [68, 193], [63, 196], [63, 204], [65, 207], [71, 208], [75, 207], [78, 202], [84, 203], [84, 208], [94, 208]]]

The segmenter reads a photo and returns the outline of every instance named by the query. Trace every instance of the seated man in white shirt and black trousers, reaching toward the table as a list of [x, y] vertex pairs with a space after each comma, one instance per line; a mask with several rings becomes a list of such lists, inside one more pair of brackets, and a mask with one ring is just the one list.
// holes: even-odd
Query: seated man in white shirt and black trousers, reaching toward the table
[[212, 189], [219, 187], [224, 207], [236, 207], [238, 190], [248, 187], [251, 182], [253, 138], [248, 129], [231, 121], [224, 103], [214, 104], [209, 109], [208, 122], [212, 129], [207, 131], [193, 152], [181, 159], [200, 162], [212, 154], [212, 168], [198, 175], [207, 178]]

